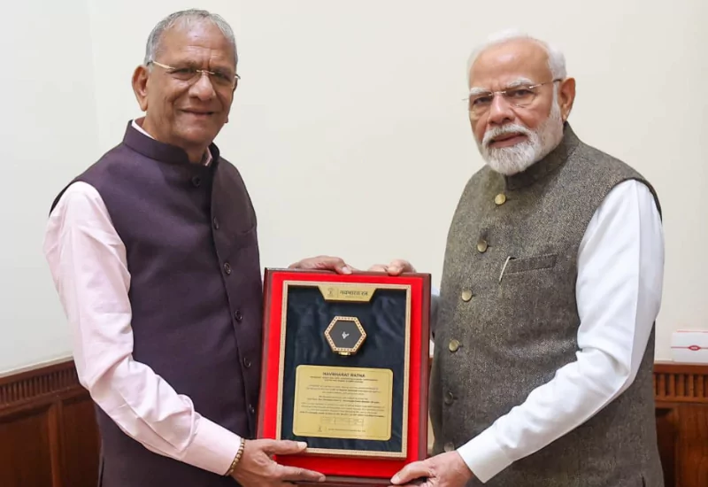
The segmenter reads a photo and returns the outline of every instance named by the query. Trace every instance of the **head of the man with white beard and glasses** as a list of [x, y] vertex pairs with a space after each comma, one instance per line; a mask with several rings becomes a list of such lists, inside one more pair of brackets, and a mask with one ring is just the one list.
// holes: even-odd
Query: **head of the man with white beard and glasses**
[[558, 146], [575, 95], [559, 50], [506, 32], [474, 50], [467, 66], [470, 122], [489, 166], [516, 174]]

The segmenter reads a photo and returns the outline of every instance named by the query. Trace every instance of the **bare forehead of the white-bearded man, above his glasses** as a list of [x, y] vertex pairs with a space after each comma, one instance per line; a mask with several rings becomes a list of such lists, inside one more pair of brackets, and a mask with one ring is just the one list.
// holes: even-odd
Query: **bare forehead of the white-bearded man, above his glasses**
[[521, 39], [483, 50], [471, 68], [470, 87], [503, 89], [520, 78], [534, 82], [550, 78], [548, 53], [541, 44]]

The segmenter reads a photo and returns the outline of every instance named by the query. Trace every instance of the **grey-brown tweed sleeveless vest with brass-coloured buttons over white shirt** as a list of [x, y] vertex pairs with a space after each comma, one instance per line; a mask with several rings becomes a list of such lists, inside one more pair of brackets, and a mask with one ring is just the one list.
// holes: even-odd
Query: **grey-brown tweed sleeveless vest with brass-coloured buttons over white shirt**
[[[504, 177], [485, 166], [467, 183], [450, 226], [435, 329], [435, 453], [466, 444], [575, 360], [578, 249], [604, 197], [630, 179], [649, 187], [660, 211], [649, 182], [566, 124], [558, 148], [524, 173]], [[662, 486], [653, 362], [652, 329], [627, 390], [485, 485]]]

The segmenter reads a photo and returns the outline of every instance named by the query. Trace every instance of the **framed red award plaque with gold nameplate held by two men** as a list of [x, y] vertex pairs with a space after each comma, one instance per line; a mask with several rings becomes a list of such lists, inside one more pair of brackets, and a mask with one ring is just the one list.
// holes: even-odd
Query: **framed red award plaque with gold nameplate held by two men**
[[427, 456], [430, 274], [266, 269], [258, 437], [329, 485], [387, 484]]

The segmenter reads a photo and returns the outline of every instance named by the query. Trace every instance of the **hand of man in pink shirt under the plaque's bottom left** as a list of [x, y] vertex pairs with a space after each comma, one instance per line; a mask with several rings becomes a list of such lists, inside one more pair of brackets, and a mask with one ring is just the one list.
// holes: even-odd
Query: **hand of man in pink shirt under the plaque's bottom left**
[[304, 452], [307, 444], [290, 440], [243, 440], [241, 460], [232, 477], [243, 487], [294, 485], [296, 481], [323, 482], [325, 475], [305, 468], [286, 467], [276, 463], [272, 455]]

